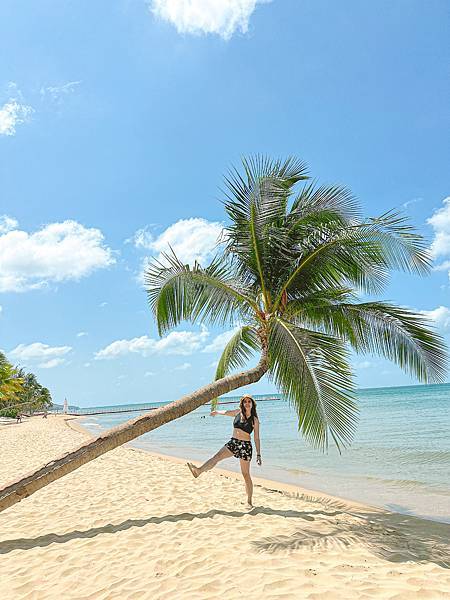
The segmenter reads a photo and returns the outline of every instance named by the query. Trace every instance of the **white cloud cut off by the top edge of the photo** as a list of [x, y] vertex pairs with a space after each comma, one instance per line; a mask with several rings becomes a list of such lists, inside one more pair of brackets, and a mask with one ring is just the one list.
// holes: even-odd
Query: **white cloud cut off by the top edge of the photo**
[[228, 40], [246, 33], [257, 4], [268, 0], [152, 0], [150, 10], [179, 33], [214, 33]]

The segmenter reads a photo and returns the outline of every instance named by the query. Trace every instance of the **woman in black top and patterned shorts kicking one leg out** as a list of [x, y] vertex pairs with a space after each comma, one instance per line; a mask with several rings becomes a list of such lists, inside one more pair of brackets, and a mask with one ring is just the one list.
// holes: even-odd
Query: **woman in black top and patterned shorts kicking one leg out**
[[256, 462], [261, 465], [261, 446], [259, 441], [259, 419], [256, 413], [256, 402], [249, 395], [242, 396], [239, 402], [239, 408], [236, 410], [214, 410], [211, 416], [226, 415], [234, 417], [233, 420], [233, 437], [225, 444], [223, 448], [217, 452], [212, 458], [207, 460], [201, 467], [195, 467], [192, 463], [187, 463], [194, 477], [198, 477], [205, 471], [209, 471], [224, 458], [234, 456], [239, 458], [241, 462], [242, 476], [245, 481], [245, 489], [247, 491], [247, 503], [249, 508], [253, 508], [253, 483], [250, 477], [250, 461], [252, 460], [252, 443], [250, 434], [254, 430], [254, 438], [256, 445]]

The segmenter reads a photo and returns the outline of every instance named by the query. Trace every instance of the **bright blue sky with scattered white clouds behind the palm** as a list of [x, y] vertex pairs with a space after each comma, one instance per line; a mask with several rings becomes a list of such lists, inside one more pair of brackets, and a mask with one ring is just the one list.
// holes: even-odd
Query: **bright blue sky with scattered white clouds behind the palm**
[[[447, 2], [188, 4], [1, 3], [0, 347], [55, 402], [171, 400], [211, 380], [227, 332], [159, 340], [139, 274], [167, 242], [207, 262], [223, 175], [252, 153], [302, 158], [367, 216], [410, 215], [435, 269], [394, 273], [383, 298], [449, 341]], [[412, 382], [353, 365], [361, 387]]]

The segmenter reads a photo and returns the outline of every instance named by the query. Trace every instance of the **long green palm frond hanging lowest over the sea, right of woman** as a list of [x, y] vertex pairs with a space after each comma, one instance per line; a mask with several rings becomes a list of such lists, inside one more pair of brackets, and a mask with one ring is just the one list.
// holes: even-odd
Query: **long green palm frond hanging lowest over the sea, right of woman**
[[324, 449], [351, 442], [357, 417], [352, 373], [336, 338], [275, 318], [269, 335], [269, 374], [297, 411], [299, 429]]

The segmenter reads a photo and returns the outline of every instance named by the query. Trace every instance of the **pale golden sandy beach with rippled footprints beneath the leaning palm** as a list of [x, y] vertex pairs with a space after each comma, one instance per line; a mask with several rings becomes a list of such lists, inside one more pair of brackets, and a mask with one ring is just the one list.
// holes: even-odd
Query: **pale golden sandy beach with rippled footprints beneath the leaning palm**
[[[70, 427], [68, 426], [71, 425]], [[0, 484], [77, 446], [0, 427]], [[3, 599], [450, 598], [450, 526], [119, 448], [0, 513]]]

